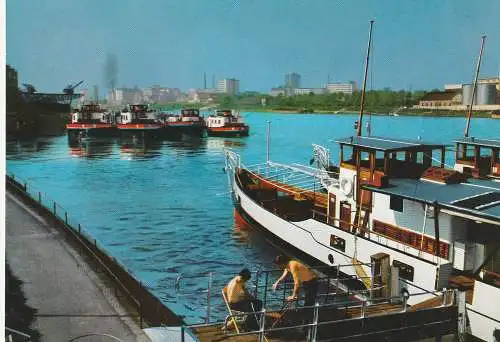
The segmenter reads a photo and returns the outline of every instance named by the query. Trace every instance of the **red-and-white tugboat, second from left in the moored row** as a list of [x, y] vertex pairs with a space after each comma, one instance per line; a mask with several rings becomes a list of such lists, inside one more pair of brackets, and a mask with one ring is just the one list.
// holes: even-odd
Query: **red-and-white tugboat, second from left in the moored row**
[[121, 111], [118, 130], [123, 134], [160, 136], [163, 125], [147, 105], [129, 105]]

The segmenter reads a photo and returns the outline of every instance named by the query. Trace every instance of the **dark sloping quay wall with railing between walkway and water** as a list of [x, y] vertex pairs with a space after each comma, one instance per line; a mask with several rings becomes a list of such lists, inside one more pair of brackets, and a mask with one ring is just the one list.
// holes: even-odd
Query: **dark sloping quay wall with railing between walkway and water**
[[110, 256], [98, 246], [97, 241], [86, 234], [81, 226], [74, 227], [68, 223], [68, 213], [59, 210], [57, 203], [47, 205], [42, 201], [42, 194], [37, 196], [28, 190], [28, 184], [16, 180], [14, 175], [6, 175], [6, 191], [16, 195], [31, 207], [47, 222], [53, 224], [63, 236], [72, 243], [80, 253], [92, 260], [90, 263], [96, 270], [103, 272], [113, 283], [115, 293], [126, 297], [134, 311], [137, 310], [141, 326], [181, 326], [184, 320], [165, 306], [153, 295], [140, 280], [136, 279], [116, 258]]

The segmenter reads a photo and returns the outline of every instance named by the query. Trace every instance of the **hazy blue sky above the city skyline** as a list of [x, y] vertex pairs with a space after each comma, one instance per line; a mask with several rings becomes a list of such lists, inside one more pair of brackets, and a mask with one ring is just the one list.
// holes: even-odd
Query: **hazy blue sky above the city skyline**
[[[302, 86], [361, 83], [375, 19], [369, 88], [442, 88], [500, 70], [499, 0], [6, 0], [7, 63], [39, 91], [105, 88], [107, 53], [118, 86], [183, 90], [234, 77], [268, 91], [287, 72]], [[81, 89], [79, 88], [79, 89]]]

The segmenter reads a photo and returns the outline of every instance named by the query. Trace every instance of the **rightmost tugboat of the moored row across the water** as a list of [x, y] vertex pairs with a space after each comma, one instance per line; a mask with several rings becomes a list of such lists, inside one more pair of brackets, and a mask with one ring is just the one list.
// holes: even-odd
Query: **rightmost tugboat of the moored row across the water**
[[243, 122], [239, 112], [233, 114], [231, 110], [218, 110], [205, 120], [207, 134], [216, 137], [243, 137], [248, 136], [249, 127]]

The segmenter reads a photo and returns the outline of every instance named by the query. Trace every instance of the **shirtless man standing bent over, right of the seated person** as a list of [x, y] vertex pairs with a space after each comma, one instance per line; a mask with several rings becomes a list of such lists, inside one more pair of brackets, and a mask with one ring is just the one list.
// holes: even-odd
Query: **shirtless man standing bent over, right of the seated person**
[[284, 255], [278, 255], [274, 260], [274, 264], [278, 268], [283, 269], [283, 274], [273, 284], [273, 290], [278, 288], [279, 283], [283, 281], [288, 275], [288, 272], [290, 272], [293, 277], [293, 292], [292, 295], [288, 296], [286, 299], [289, 301], [296, 300], [299, 295], [300, 285], [302, 285], [305, 293], [304, 306], [313, 306], [316, 301], [316, 295], [318, 294], [318, 280], [316, 279], [316, 275], [304, 264], [296, 260], [290, 260], [290, 258]]

